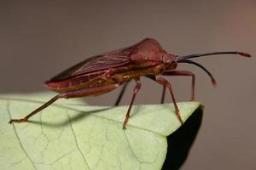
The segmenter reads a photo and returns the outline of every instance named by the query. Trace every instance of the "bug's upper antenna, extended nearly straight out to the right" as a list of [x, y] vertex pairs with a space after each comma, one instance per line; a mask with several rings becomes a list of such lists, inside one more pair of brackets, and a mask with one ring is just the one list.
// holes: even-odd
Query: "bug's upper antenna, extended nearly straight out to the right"
[[192, 59], [192, 58], [197, 58], [197, 57], [202, 57], [202, 56], [207, 56], [207, 55], [218, 55], [218, 54], [240, 54], [241, 56], [244, 56], [244, 57], [251, 57], [250, 54], [243, 53], [243, 52], [224, 51], [224, 52], [213, 52], [213, 53], [205, 53], [205, 54], [184, 55], [184, 56], [177, 57], [177, 61], [181, 61], [183, 59]]

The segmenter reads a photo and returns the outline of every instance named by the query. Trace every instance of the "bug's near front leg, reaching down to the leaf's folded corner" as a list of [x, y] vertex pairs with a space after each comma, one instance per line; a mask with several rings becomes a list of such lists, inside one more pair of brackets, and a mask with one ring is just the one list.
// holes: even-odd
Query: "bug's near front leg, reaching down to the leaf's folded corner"
[[183, 120], [181, 119], [181, 116], [180, 116], [178, 108], [177, 108], [176, 99], [174, 98], [174, 94], [172, 92], [172, 85], [171, 85], [171, 83], [168, 82], [164, 77], [160, 77], [160, 76], [152, 76], [152, 77], [149, 77], [149, 78], [154, 80], [155, 82], [160, 83], [163, 86], [166, 86], [166, 88], [169, 89], [171, 97], [172, 97], [173, 105], [174, 105], [174, 108], [175, 108], [175, 114], [176, 114], [177, 119], [179, 120], [179, 122], [181, 122], [183, 124]]

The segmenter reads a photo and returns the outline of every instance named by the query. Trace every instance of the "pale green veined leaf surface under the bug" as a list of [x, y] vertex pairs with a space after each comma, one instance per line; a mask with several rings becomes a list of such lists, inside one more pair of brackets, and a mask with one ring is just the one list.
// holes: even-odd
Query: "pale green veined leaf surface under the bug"
[[[30, 122], [8, 123], [49, 99], [39, 96], [0, 97], [1, 169], [160, 169], [166, 136], [181, 126], [173, 105], [134, 105], [123, 130], [127, 106], [90, 106], [76, 99], [60, 99]], [[183, 121], [200, 105], [179, 103]]]

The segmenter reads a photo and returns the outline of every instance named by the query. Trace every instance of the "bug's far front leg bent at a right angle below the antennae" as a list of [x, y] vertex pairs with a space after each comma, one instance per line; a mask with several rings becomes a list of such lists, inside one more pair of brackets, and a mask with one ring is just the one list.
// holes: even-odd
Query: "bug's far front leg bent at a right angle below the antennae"
[[162, 75], [164, 75], [164, 76], [189, 76], [189, 77], [192, 77], [190, 101], [195, 100], [195, 74], [193, 72], [190, 72], [190, 71], [170, 71], [170, 72], [165, 72]]

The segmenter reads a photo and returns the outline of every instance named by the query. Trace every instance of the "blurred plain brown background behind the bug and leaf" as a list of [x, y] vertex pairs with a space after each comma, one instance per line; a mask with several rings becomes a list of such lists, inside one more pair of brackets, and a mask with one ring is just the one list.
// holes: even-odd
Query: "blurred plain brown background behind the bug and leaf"
[[[173, 54], [241, 50], [195, 59], [218, 81], [196, 74], [196, 99], [205, 105], [200, 133], [182, 169], [255, 169], [255, 1], [1, 1], [0, 93], [46, 91], [56, 73], [94, 54], [154, 37]], [[189, 77], [169, 77], [178, 101], [190, 95]], [[128, 105], [131, 83], [122, 100]], [[137, 104], [160, 102], [160, 85], [143, 78]], [[112, 105], [119, 90], [90, 103]], [[166, 95], [166, 102], [170, 102]]]

